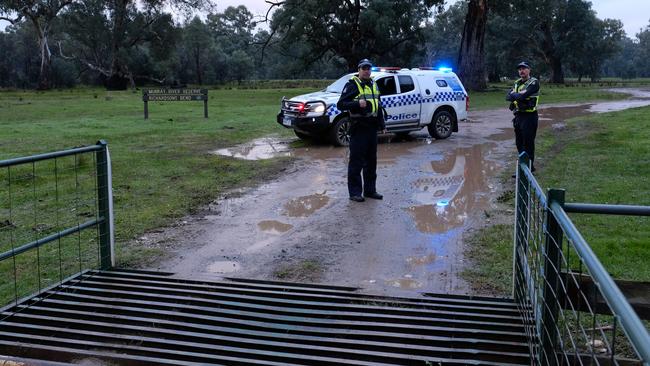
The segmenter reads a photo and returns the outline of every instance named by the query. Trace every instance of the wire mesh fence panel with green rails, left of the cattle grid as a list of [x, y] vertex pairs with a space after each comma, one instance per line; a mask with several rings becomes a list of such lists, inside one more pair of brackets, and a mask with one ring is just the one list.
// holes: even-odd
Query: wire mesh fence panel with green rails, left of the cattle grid
[[0, 161], [0, 308], [106, 263], [107, 151]]

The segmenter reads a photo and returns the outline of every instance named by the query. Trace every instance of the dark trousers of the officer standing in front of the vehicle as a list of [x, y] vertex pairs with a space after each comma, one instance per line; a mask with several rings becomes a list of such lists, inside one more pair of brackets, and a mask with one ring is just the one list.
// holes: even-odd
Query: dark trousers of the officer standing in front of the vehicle
[[350, 162], [348, 163], [350, 197], [377, 192], [376, 182], [377, 128], [363, 124], [354, 125], [350, 129]]

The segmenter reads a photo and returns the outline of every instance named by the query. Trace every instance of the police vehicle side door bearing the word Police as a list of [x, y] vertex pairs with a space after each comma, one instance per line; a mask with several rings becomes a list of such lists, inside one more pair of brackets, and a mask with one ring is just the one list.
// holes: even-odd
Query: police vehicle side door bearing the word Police
[[420, 95], [416, 91], [415, 81], [410, 75], [396, 75], [397, 93], [384, 98], [382, 105], [388, 117], [386, 126], [391, 130], [408, 129], [420, 123]]

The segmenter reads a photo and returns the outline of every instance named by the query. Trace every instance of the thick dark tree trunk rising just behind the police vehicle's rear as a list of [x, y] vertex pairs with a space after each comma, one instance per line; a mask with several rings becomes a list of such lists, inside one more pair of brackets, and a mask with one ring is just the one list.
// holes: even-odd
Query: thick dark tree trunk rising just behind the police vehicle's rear
[[466, 88], [485, 90], [485, 29], [488, 0], [470, 0], [458, 53], [458, 76]]

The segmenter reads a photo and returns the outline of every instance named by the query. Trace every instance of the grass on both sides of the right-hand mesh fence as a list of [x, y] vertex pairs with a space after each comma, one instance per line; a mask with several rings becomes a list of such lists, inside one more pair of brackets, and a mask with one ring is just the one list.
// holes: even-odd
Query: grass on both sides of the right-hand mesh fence
[[[649, 107], [598, 114], [570, 120], [562, 131], [542, 131], [538, 154], [544, 164], [536, 175], [541, 186], [565, 189], [567, 202], [650, 206], [649, 114]], [[512, 182], [509, 176], [503, 180]], [[512, 191], [501, 198], [514, 207]], [[571, 214], [571, 219], [614, 278], [650, 281], [650, 218]], [[483, 229], [470, 244], [476, 265], [467, 277], [478, 287], [509, 294], [511, 224]]]

